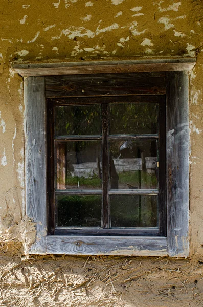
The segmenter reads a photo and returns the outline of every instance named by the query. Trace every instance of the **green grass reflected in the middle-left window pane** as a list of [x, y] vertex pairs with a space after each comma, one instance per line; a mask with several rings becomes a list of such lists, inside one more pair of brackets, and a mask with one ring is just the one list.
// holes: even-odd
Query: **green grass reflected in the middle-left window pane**
[[98, 176], [91, 176], [89, 178], [85, 177], [78, 177], [78, 176], [70, 176], [66, 177], [66, 184], [76, 186], [78, 185], [78, 181], [80, 183], [80, 186], [86, 186], [86, 187], [99, 187], [101, 188], [101, 179]]

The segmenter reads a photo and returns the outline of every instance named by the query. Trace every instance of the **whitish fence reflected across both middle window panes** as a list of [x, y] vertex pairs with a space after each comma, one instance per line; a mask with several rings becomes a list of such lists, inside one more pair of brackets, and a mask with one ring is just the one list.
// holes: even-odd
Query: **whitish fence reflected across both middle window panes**
[[[116, 172], [126, 172], [126, 171], [134, 171], [134, 170], [142, 170], [142, 159], [113, 159], [114, 165], [116, 168]], [[146, 162], [146, 171], [148, 173], [154, 173], [154, 169], [156, 167], [156, 157], [145, 157]], [[94, 174], [98, 174], [98, 165], [96, 162], [87, 162], [81, 164], [73, 164], [74, 171], [71, 173], [72, 176], [78, 177], [92, 177]], [[102, 169], [102, 165], [100, 163], [100, 169]]]

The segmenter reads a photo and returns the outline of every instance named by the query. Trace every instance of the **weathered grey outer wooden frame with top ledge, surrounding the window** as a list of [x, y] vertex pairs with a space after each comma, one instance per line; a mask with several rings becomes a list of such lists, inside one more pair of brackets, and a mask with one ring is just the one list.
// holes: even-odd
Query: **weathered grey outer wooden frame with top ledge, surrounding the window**
[[[15, 65], [24, 79], [26, 214], [36, 223], [31, 254], [189, 256], [188, 73], [194, 59]], [[74, 68], [73, 68], [74, 67]], [[47, 236], [44, 75], [166, 71], [167, 238]]]

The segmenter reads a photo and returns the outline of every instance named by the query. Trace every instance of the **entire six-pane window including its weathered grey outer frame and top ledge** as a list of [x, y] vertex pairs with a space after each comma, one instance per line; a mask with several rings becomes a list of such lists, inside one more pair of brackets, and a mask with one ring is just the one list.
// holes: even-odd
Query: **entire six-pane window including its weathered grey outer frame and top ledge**
[[[193, 66], [193, 59], [180, 59], [14, 67], [28, 76], [26, 213], [37, 232], [30, 253], [189, 255], [187, 71]], [[142, 108], [150, 114], [147, 127], [145, 120], [131, 121]], [[79, 170], [85, 163], [88, 171]], [[70, 198], [73, 212], [63, 214]], [[87, 203], [92, 211], [80, 211]]]

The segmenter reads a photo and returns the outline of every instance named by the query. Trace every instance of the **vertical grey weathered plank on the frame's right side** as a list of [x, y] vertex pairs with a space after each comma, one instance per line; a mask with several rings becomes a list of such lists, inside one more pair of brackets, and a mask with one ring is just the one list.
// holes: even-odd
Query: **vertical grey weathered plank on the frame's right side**
[[167, 236], [169, 256], [189, 256], [188, 74], [167, 74]]

